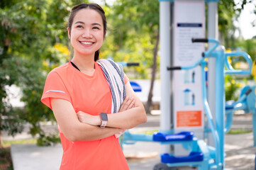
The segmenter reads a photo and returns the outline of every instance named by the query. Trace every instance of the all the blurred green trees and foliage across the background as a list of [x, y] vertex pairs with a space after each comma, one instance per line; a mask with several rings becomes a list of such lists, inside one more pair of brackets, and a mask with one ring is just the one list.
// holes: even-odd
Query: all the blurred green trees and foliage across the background
[[[70, 60], [72, 50], [67, 38], [67, 18], [79, 0], [1, 0], [0, 3], [0, 141], [1, 130], [9, 135], [30, 124], [30, 134], [38, 145], [60, 142], [57, 134], [48, 134], [42, 122], [55, 122], [49, 108], [40, 103], [45, 78], [53, 68]], [[230, 50], [243, 50], [256, 58], [256, 37], [244, 40], [233, 21], [251, 1], [220, 0], [218, 28], [221, 44]], [[108, 31], [100, 58], [117, 62], [139, 62], [140, 67], [125, 68], [130, 79], [159, 79], [159, 2], [157, 0], [104, 1]], [[206, 6], [207, 10], [207, 6]], [[239, 32], [239, 31], [238, 31]], [[243, 62], [239, 57], [235, 63]], [[235, 68], [240, 67], [234, 64]], [[235, 99], [235, 91], [252, 77], [227, 77], [226, 99]], [[6, 86], [21, 89], [23, 108], [13, 108]], [[149, 99], [152, 95], [149, 95]], [[150, 106], [150, 103], [149, 103]], [[1, 147], [1, 142], [0, 142]]]

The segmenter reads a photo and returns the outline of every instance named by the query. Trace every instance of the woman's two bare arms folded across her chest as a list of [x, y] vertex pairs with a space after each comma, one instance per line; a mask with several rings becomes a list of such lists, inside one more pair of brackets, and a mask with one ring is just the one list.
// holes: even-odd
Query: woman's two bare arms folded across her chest
[[99, 115], [89, 115], [82, 111], [76, 113], [69, 101], [52, 98], [52, 111], [68, 140], [100, 140], [147, 121], [143, 103], [129, 82], [126, 84], [126, 96], [118, 113], [108, 114], [108, 123], [104, 129], [99, 128], [101, 125]]

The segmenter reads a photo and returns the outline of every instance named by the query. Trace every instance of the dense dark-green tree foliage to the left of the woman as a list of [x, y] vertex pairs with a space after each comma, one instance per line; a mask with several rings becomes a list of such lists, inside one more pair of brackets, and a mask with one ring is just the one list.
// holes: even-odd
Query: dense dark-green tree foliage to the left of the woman
[[[73, 2], [9, 2], [4, 1], [0, 8], [0, 130], [14, 135], [21, 132], [23, 122], [30, 123], [30, 134], [39, 136], [38, 144], [50, 145], [58, 137], [46, 134], [40, 122], [55, 122], [55, 118], [40, 103], [40, 97], [47, 73], [69, 60], [65, 20]], [[21, 100], [25, 107], [22, 109], [14, 110], [6, 100], [6, 86], [12, 84], [23, 92]]]

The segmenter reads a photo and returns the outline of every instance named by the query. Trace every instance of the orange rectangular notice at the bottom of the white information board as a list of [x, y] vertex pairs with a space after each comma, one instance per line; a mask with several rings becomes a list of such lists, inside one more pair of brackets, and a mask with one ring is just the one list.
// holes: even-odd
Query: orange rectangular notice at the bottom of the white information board
[[202, 111], [177, 111], [177, 128], [201, 127]]

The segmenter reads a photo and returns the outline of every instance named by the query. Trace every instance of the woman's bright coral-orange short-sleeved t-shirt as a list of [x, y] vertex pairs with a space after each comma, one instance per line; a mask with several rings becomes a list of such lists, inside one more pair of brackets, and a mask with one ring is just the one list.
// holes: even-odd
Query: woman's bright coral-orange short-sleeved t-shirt
[[[111, 113], [111, 91], [104, 74], [95, 62], [93, 76], [74, 68], [71, 62], [53, 69], [45, 81], [41, 101], [52, 108], [50, 98], [62, 98], [72, 103], [74, 111], [91, 115]], [[128, 77], [124, 77], [128, 82]], [[101, 140], [71, 142], [60, 128], [63, 155], [60, 169], [126, 170], [128, 164], [114, 135]]]

